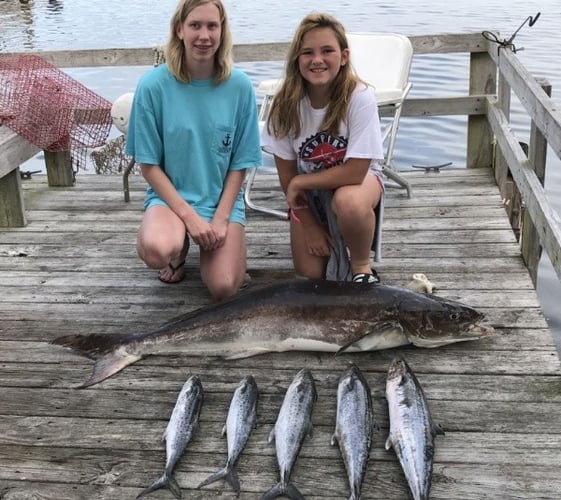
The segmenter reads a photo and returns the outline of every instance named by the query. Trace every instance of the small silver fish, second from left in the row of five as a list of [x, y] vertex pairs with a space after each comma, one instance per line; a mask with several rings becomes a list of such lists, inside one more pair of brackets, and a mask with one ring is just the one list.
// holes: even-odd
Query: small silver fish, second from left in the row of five
[[197, 488], [202, 488], [225, 478], [236, 492], [236, 495], [240, 496], [240, 482], [234, 466], [245, 448], [251, 431], [257, 425], [258, 396], [259, 391], [253, 376], [248, 375], [244, 377], [234, 391], [226, 418], [226, 425], [222, 429], [222, 435], [226, 435], [228, 439], [228, 460], [226, 466], [205, 479]]

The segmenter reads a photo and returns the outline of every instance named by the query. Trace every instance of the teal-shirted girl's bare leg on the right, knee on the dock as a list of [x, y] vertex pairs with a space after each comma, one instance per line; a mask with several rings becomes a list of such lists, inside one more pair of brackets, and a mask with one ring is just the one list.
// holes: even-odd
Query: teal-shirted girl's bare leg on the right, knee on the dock
[[201, 250], [201, 278], [216, 300], [238, 292], [246, 271], [245, 229], [230, 223], [224, 245], [210, 252]]

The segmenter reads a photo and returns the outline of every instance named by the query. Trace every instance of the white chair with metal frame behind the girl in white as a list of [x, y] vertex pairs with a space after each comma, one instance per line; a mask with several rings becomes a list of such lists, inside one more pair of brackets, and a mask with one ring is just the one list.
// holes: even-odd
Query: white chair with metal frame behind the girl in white
[[[382, 139], [387, 143], [383, 173], [394, 181], [398, 187], [407, 190], [407, 196], [411, 196], [411, 187], [393, 169], [393, 154], [395, 141], [399, 128], [402, 106], [411, 89], [409, 73], [413, 59], [413, 46], [404, 35], [396, 33], [347, 33], [349, 48], [351, 49], [351, 61], [353, 66], [365, 82], [374, 87], [378, 108], [389, 115], [390, 122], [382, 130]], [[275, 92], [280, 87], [282, 79], [264, 80], [259, 84], [257, 92], [263, 95], [259, 120], [261, 126], [267, 119]], [[258, 205], [251, 199], [251, 191], [257, 169], [251, 169], [248, 173], [245, 188], [246, 205], [260, 212], [287, 218], [286, 212]], [[382, 244], [382, 220], [383, 204], [380, 203], [376, 210], [376, 234], [372, 243], [374, 261], [381, 260]]]

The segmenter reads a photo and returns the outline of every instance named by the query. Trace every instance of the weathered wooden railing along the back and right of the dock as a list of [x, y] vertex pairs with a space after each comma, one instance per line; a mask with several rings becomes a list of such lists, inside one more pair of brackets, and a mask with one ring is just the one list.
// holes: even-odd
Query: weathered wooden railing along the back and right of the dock
[[[561, 114], [547, 94], [547, 82], [539, 83], [510, 49], [489, 44], [480, 33], [411, 36], [410, 40], [415, 55], [469, 54], [469, 92], [464, 96], [409, 97], [402, 116], [468, 116], [466, 166], [495, 169], [501, 195], [509, 200], [506, 208], [513, 230], [520, 232], [523, 257], [534, 283], [542, 246], [561, 279], [561, 224], [543, 189], [547, 145], [561, 158]], [[158, 50], [152, 47], [33, 54], [59, 68], [149, 66], [154, 64]], [[234, 58], [239, 63], [282, 61], [287, 50], [287, 43], [236, 45]], [[532, 123], [527, 154], [509, 126], [511, 89]]]

